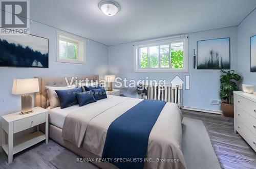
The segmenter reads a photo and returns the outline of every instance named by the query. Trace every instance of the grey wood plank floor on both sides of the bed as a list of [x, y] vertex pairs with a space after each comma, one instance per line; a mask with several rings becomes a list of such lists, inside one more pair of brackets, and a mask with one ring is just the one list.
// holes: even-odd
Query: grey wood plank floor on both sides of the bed
[[[256, 168], [256, 153], [239, 134], [234, 133], [232, 118], [205, 112], [182, 111], [185, 117], [203, 121], [222, 168]], [[91, 168], [79, 166], [79, 162], [75, 162], [78, 157], [76, 154], [52, 140], [48, 145], [41, 142], [14, 155], [11, 164], [7, 163], [6, 154], [0, 151], [0, 168], [56, 168], [50, 161], [58, 157], [61, 160], [71, 158], [70, 161], [73, 161], [63, 168]]]

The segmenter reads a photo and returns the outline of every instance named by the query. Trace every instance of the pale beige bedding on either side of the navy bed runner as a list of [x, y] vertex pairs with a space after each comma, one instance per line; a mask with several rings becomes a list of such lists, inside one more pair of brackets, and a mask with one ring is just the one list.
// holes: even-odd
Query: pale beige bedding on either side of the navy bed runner
[[[110, 124], [140, 101], [142, 99], [108, 96], [82, 107], [74, 106], [65, 115], [64, 124], [62, 118], [62, 138], [101, 157]], [[148, 138], [146, 157], [153, 161], [145, 162], [144, 168], [186, 168], [181, 151], [181, 121], [177, 104], [166, 103]], [[165, 159], [179, 159], [179, 162], [162, 161]]]

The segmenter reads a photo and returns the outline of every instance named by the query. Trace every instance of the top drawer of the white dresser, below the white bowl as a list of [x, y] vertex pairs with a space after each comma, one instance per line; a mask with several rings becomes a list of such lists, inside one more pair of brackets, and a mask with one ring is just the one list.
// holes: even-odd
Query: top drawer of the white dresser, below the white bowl
[[237, 105], [252, 117], [256, 118], [256, 103], [235, 94], [234, 105]]

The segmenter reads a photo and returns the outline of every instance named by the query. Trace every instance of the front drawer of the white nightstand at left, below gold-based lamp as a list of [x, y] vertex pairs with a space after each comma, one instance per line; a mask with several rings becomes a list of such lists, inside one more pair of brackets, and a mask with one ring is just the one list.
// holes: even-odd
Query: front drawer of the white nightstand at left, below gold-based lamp
[[[33, 112], [32, 112], [33, 113]], [[22, 115], [21, 115], [22, 116]], [[30, 127], [46, 122], [46, 112], [13, 122], [13, 133], [23, 131]]]

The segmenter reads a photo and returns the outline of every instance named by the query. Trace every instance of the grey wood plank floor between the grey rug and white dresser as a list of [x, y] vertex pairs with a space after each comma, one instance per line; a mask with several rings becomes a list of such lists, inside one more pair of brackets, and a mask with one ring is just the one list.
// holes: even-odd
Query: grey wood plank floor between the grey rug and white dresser
[[222, 168], [256, 168], [256, 153], [234, 133], [233, 118], [182, 110], [184, 117], [202, 120]]

